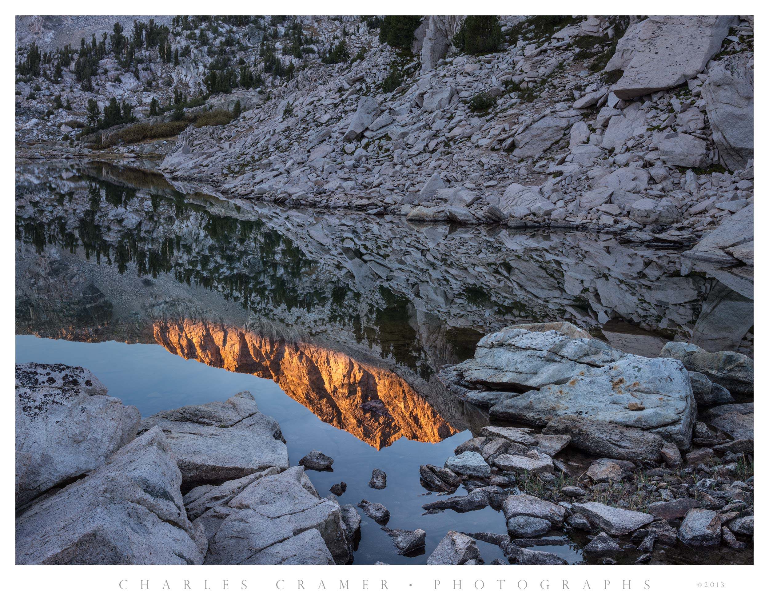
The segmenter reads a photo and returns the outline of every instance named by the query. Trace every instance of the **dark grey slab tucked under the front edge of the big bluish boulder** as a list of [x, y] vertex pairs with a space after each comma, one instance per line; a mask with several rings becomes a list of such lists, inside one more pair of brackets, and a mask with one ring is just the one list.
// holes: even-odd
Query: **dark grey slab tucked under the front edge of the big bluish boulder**
[[568, 435], [575, 447], [590, 454], [617, 460], [654, 462], [659, 459], [664, 445], [662, 437], [646, 430], [579, 416], [554, 418], [543, 432]]

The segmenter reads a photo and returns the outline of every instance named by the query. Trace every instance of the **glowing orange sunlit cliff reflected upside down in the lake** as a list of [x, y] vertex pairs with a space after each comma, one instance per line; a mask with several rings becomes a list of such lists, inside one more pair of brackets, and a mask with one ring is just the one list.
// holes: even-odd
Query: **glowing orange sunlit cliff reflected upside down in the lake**
[[339, 351], [188, 319], [155, 321], [153, 331], [185, 359], [270, 378], [321, 421], [377, 449], [400, 437], [437, 443], [457, 432], [403, 378]]

